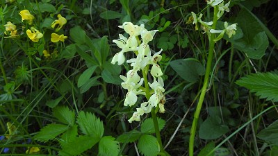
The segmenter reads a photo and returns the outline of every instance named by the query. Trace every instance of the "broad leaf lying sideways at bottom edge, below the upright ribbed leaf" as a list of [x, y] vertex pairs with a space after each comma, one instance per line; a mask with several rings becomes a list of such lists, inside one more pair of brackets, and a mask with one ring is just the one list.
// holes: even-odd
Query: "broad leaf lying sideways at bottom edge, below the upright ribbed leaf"
[[75, 137], [74, 141], [62, 146], [62, 150], [59, 151], [59, 155], [62, 156], [75, 156], [80, 155], [86, 150], [92, 148], [99, 139], [95, 137], [79, 136]]

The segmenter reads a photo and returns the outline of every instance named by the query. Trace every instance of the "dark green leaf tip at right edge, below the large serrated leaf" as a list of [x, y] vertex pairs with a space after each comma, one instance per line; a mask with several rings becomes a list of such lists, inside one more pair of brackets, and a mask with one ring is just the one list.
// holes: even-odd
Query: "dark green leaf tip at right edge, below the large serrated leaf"
[[278, 146], [278, 120], [274, 121], [274, 123], [269, 125], [267, 128], [261, 130], [257, 137]]

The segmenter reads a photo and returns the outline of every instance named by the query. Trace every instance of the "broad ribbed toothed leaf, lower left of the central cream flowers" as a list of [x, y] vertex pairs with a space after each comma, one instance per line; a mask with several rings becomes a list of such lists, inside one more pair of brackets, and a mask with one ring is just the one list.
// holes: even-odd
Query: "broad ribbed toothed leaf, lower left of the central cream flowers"
[[77, 118], [81, 132], [85, 135], [101, 139], [104, 135], [104, 124], [94, 114], [90, 112], [79, 112]]

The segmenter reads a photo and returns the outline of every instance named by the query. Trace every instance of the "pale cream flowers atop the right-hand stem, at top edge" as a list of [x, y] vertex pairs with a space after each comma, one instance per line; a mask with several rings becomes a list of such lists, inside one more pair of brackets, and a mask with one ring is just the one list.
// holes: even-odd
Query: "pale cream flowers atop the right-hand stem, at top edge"
[[[206, 0], [206, 3], [208, 5], [212, 6], [213, 8], [216, 8], [218, 10], [217, 17], [220, 19], [224, 12], [229, 12], [229, 5], [230, 2], [224, 4], [223, 0]], [[236, 25], [237, 24], [231, 24], [229, 25], [227, 21], [224, 22], [224, 29], [223, 30], [215, 30], [211, 28], [211, 25], [213, 25], [213, 21], [205, 22], [202, 21], [202, 13], [199, 14], [199, 17], [194, 12], [191, 12], [192, 17], [193, 17], [193, 24], [195, 24], [195, 29], [198, 29], [197, 24], [201, 24], [201, 28], [203, 29], [204, 33], [220, 33], [218, 37], [215, 38], [215, 42], [222, 39], [224, 33], [226, 33], [229, 38], [231, 38], [232, 35], [236, 34]]]

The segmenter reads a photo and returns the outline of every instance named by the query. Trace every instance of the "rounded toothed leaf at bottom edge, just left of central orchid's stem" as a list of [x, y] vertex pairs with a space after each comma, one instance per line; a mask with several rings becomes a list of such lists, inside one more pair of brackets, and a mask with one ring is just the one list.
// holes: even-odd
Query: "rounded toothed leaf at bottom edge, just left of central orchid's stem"
[[142, 135], [138, 141], [138, 150], [142, 155], [154, 156], [159, 153], [159, 144], [152, 135]]

